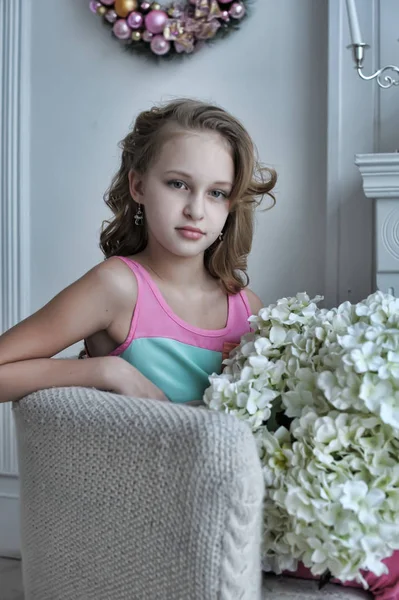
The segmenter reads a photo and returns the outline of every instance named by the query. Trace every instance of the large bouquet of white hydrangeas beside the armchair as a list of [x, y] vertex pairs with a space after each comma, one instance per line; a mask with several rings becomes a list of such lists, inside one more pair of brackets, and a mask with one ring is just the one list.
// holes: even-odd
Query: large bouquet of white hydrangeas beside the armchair
[[399, 549], [399, 298], [250, 318], [204, 395], [251, 426], [263, 466], [265, 570], [357, 580]]

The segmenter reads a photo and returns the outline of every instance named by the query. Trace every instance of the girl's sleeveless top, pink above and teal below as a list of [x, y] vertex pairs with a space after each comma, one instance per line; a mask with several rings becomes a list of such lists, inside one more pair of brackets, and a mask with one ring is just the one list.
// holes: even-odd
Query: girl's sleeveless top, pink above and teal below
[[222, 370], [226, 344], [237, 344], [250, 331], [244, 291], [228, 296], [223, 329], [200, 329], [180, 319], [168, 306], [148, 271], [119, 256], [137, 279], [137, 302], [129, 334], [111, 354], [121, 356], [159, 387], [172, 402], [201, 400], [209, 375]]

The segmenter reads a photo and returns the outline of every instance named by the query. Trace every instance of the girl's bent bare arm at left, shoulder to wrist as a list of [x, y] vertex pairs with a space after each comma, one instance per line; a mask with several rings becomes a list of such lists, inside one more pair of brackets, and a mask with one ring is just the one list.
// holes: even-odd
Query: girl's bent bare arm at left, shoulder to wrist
[[126, 277], [121, 261], [109, 259], [0, 336], [0, 402], [50, 387], [112, 389], [109, 374], [120, 359], [51, 357], [98, 331], [109, 330], [126, 293], [134, 306], [133, 281]]

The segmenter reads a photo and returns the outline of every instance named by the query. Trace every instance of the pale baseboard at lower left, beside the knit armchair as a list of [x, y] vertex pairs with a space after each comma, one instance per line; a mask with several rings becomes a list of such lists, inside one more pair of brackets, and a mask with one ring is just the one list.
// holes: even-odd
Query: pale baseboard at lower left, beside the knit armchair
[[21, 556], [19, 479], [0, 474], [0, 556]]

